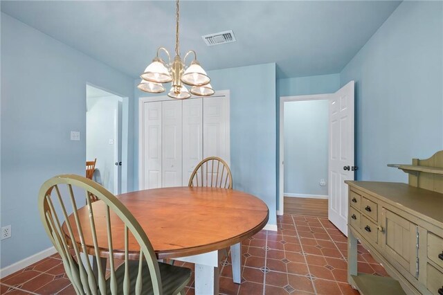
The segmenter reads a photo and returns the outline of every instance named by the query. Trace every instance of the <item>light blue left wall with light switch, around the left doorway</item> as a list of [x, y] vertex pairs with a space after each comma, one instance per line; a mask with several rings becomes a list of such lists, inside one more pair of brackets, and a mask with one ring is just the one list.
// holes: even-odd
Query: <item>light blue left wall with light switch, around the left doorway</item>
[[[0, 242], [2, 268], [52, 246], [37, 193], [54, 175], [84, 175], [87, 82], [129, 97], [133, 109], [133, 78], [1, 14], [0, 212], [1, 226], [12, 225], [12, 238]], [[70, 141], [71, 130], [80, 141]]]

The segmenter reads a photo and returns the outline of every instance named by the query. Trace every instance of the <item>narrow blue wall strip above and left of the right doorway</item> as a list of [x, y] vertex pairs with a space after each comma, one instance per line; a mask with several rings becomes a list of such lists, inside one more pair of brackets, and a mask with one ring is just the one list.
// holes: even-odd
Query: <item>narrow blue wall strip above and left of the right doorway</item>
[[[276, 104], [276, 140], [277, 147], [280, 143], [280, 97], [282, 96], [303, 96], [311, 94], [334, 93], [340, 89], [340, 75], [314, 75], [309, 77], [288, 78], [277, 80]], [[277, 171], [277, 184], [280, 181], [280, 149], [277, 148], [275, 169]], [[276, 186], [276, 195], [280, 194], [280, 188]], [[277, 208], [280, 208], [279, 198], [277, 197]]]

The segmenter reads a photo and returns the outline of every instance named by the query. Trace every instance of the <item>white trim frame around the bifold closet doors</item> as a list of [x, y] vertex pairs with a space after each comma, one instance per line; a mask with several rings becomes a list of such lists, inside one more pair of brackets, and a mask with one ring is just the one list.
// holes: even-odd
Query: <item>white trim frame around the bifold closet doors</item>
[[[228, 97], [228, 111], [229, 111], [229, 120], [228, 120], [228, 134], [230, 134], [230, 90], [217, 90], [212, 96], [191, 96], [188, 99], [194, 99], [194, 98], [217, 98], [217, 97]], [[138, 99], [138, 190], [143, 187], [141, 184], [143, 184], [143, 141], [141, 141], [141, 138], [143, 138], [143, 104], [145, 102], [156, 102], [156, 101], [165, 101], [165, 100], [177, 100], [176, 98], [170, 98], [169, 96], [162, 94], [162, 95], [151, 95], [151, 96], [142, 96]], [[228, 145], [230, 145], [230, 135], [228, 136], [229, 142]], [[229, 157], [228, 157], [228, 165], [230, 165], [230, 147], [229, 147]]]

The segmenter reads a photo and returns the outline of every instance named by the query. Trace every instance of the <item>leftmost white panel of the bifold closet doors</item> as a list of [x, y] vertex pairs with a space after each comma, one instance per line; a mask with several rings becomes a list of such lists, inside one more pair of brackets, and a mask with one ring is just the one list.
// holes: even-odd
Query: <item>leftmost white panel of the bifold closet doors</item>
[[161, 102], [143, 104], [143, 187], [161, 188]]

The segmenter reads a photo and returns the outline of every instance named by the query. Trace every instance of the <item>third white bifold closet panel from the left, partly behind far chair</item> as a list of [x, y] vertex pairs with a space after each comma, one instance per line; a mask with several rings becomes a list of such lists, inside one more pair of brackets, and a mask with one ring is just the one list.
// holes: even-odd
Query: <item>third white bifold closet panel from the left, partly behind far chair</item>
[[188, 186], [203, 150], [203, 103], [201, 98], [183, 100], [183, 181]]

